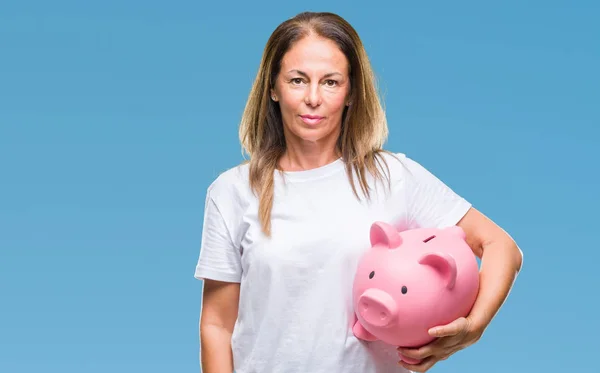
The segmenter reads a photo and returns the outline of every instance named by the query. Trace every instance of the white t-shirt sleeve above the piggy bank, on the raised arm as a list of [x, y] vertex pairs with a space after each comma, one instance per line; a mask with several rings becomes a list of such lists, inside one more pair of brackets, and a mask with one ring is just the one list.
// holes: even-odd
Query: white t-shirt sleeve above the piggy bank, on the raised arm
[[444, 228], [456, 225], [471, 208], [471, 203], [415, 160], [403, 158], [409, 171], [405, 184], [409, 227]]

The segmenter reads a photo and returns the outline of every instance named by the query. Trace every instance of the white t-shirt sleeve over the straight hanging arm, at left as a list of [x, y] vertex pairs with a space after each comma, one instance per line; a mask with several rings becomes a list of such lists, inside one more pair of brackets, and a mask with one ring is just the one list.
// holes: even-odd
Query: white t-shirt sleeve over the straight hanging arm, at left
[[230, 230], [210, 193], [206, 197], [200, 255], [194, 277], [240, 282], [241, 251], [235, 247]]

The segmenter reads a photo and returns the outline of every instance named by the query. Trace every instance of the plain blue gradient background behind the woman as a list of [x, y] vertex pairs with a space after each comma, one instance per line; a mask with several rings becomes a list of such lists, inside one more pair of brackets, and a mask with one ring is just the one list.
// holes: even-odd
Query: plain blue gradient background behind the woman
[[205, 191], [278, 23], [328, 10], [379, 76], [387, 148], [525, 253], [483, 339], [432, 372], [599, 369], [592, 1], [0, 4], [0, 372], [198, 372]]

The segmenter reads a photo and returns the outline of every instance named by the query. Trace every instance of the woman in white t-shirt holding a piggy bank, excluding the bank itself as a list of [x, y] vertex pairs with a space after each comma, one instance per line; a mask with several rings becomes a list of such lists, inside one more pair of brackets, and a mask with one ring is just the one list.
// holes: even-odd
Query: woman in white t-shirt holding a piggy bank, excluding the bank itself
[[[271, 35], [243, 114], [250, 161], [208, 188], [195, 277], [204, 373], [424, 372], [476, 342], [520, 270], [513, 240], [417, 162], [382, 149], [373, 72], [355, 30], [302, 13]], [[470, 315], [400, 351], [352, 333], [351, 288], [376, 220], [459, 225], [482, 258]], [[386, 349], [387, 348], [387, 349]]]

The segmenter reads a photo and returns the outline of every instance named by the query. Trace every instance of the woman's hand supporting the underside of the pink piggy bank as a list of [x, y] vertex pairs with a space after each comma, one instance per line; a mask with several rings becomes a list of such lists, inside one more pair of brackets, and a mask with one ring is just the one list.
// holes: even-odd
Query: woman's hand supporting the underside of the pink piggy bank
[[399, 354], [421, 360], [411, 365], [404, 361], [398, 364], [413, 372], [426, 372], [438, 361], [446, 360], [450, 355], [468, 347], [481, 338], [485, 326], [475, 325], [469, 317], [461, 317], [450, 324], [437, 326], [429, 334], [438, 337], [420, 348], [398, 348]]

